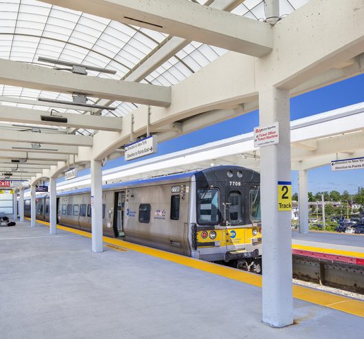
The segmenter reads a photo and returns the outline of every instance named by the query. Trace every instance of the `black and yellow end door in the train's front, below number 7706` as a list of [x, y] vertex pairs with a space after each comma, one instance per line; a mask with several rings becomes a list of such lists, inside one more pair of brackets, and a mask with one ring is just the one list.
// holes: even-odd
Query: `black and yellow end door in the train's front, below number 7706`
[[[224, 219], [226, 226], [226, 245], [228, 250], [244, 247], [244, 186], [227, 186], [225, 188], [225, 201], [223, 201]], [[229, 184], [229, 182], [228, 182]]]

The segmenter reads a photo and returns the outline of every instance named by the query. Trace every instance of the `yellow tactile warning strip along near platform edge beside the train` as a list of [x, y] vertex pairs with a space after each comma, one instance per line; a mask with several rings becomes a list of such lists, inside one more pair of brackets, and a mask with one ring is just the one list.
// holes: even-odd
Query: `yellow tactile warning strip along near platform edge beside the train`
[[[47, 221], [37, 220], [37, 222], [49, 226], [49, 223]], [[60, 230], [73, 232], [84, 237], [91, 238], [91, 233], [89, 232], [75, 230], [73, 228], [59, 225], [57, 225], [57, 228]], [[156, 256], [157, 258], [172, 261], [174, 263], [179, 263], [180, 265], [192, 267], [196, 270], [217, 274], [219, 276], [225, 276], [225, 278], [233, 279], [253, 286], [262, 287], [262, 276], [258, 274], [252, 274], [249, 272], [236, 270], [231, 267], [193, 259], [188, 256], [181, 256], [179, 254], [156, 250], [155, 248], [148, 248], [146, 246], [137, 245], [135, 243], [128, 243], [127, 241], [120, 239], [103, 237], [103, 240], [105, 243], [116, 245], [124, 249], [134, 250], [136, 252], [141, 252], [150, 256]], [[308, 301], [309, 303], [315, 303], [317, 305], [329, 307], [331, 309], [337, 309], [338, 311], [343, 311], [345, 313], [353, 314], [355, 316], [361, 316], [364, 318], [364, 302], [361, 300], [353, 300], [351, 298], [346, 298], [345, 296], [337, 296], [328, 292], [317, 291], [315, 289], [310, 289], [308, 287], [297, 285], [293, 285], [293, 297]]]

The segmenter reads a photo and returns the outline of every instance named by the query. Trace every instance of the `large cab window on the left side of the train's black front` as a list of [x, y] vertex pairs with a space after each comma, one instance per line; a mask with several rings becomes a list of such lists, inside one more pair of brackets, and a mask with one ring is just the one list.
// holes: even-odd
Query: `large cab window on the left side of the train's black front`
[[218, 190], [216, 188], [198, 189], [197, 222], [200, 225], [218, 223]]

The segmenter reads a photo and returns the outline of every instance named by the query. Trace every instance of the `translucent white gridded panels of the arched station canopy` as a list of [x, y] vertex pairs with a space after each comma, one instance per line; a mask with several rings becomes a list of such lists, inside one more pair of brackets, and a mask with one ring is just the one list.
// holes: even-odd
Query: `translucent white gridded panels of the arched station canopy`
[[[77, 1], [77, 0], [75, 0]], [[201, 5], [211, 5], [213, 0], [191, 0]], [[219, 1], [219, 0], [215, 0]], [[226, 1], [225, 1], [226, 2]], [[231, 1], [234, 2], [234, 1]], [[284, 17], [307, 3], [308, 0], [280, 0], [280, 15]], [[264, 1], [235, 1], [232, 13], [253, 20], [264, 20]], [[72, 63], [113, 69], [116, 74], [88, 71], [88, 76], [128, 79], [149, 56], [159, 50], [172, 36], [111, 21], [102, 17], [52, 6], [34, 0], [0, 0], [0, 58], [44, 67], [60, 67], [38, 61], [39, 56]], [[172, 86], [208, 65], [227, 52], [218, 47], [192, 41], [177, 54], [150, 69], [141, 83]], [[34, 105], [24, 102], [5, 101], [11, 105], [28, 109], [49, 111], [52, 107], [37, 105], [37, 98], [72, 101], [71, 94], [12, 87], [0, 84], [0, 96], [14, 99], [34, 100]], [[100, 98], [88, 97], [88, 103], [99, 103]], [[19, 100], [21, 101], [21, 100]], [[104, 109], [102, 115], [122, 117], [138, 107], [133, 102], [110, 102], [115, 111]], [[102, 102], [101, 102], [102, 103]], [[72, 109], [57, 109], [60, 112], [84, 113]], [[2, 123], [1, 128], [12, 128]], [[95, 131], [77, 129], [76, 134], [92, 135]]]

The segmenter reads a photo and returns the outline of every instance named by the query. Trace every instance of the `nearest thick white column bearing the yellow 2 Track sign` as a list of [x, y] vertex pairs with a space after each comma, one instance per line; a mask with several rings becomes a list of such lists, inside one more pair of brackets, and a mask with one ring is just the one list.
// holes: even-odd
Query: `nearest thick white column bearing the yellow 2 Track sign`
[[260, 126], [279, 122], [279, 144], [260, 149], [262, 204], [263, 321], [272, 327], [293, 323], [291, 211], [279, 211], [277, 182], [291, 182], [288, 91], [259, 92]]

